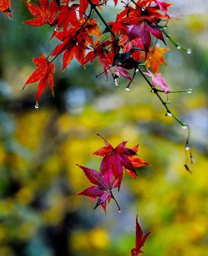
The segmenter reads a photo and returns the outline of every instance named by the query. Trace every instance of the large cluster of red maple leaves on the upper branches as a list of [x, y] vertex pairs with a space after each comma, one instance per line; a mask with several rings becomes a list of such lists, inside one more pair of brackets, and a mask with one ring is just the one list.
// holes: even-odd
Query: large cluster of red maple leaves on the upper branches
[[[0, 8], [7, 13], [10, 1], [0, 0], [0, 3], [4, 3], [4, 1], [8, 3], [7, 6], [0, 6]], [[108, 1], [79, 0], [78, 3], [71, 4], [73, 1], [39, 0], [40, 6], [24, 1], [30, 13], [35, 17], [24, 23], [37, 27], [45, 24], [54, 27], [50, 39], [56, 37], [60, 41], [52, 53], [47, 58], [44, 57], [48, 69], [52, 71], [50, 74], [54, 72], [50, 63], [61, 53], [63, 53], [62, 71], [67, 68], [74, 57], [82, 66], [88, 62], [93, 63], [94, 59], [98, 58], [100, 65], [104, 68], [103, 73], [106, 79], [110, 73], [115, 84], [118, 85], [120, 76], [133, 81], [129, 70], [135, 71], [138, 65], [144, 61], [147, 63], [147, 67], [151, 67], [154, 72], [154, 74], [148, 73], [151, 75], [153, 86], [160, 86], [167, 94], [170, 89], [161, 74], [157, 74], [160, 65], [165, 64], [163, 53], [167, 50], [158, 45], [151, 48], [151, 42], [155, 38], [166, 44], [158, 23], [173, 17], [168, 11], [171, 4], [162, 0], [138, 0], [132, 5], [129, 1], [122, 2], [124, 10], [117, 15], [115, 21], [105, 24], [106, 29], [101, 33], [97, 20], [91, 17], [92, 10], [97, 8], [101, 10], [102, 5], [106, 5]], [[115, 5], [117, 2], [114, 0]], [[89, 8], [89, 13], [87, 13]], [[110, 33], [110, 36], [104, 37], [105, 33]], [[149, 57], [151, 57], [151, 61], [148, 62], [146, 60]], [[52, 60], [48, 61], [50, 58]], [[39, 66], [38, 70], [41, 70]], [[34, 72], [26, 82], [26, 84], [30, 84], [40, 80], [37, 102], [45, 89], [45, 81], [48, 81], [46, 68], [42, 68], [41, 75], [39, 71]], [[37, 78], [35, 78], [36, 75]], [[53, 91], [52, 80], [50, 77], [51, 83], [49, 84]]]

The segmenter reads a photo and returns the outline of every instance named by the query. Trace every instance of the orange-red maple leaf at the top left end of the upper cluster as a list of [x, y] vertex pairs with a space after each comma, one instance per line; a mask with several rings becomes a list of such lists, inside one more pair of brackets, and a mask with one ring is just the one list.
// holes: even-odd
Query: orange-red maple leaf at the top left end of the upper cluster
[[40, 7], [34, 3], [27, 3], [26, 1], [23, 2], [27, 6], [30, 13], [36, 18], [24, 21], [23, 23], [36, 27], [41, 27], [45, 24], [49, 24], [50, 26], [53, 25], [54, 17], [59, 10], [55, 0], [53, 0], [50, 5], [49, 0], [39, 0]]

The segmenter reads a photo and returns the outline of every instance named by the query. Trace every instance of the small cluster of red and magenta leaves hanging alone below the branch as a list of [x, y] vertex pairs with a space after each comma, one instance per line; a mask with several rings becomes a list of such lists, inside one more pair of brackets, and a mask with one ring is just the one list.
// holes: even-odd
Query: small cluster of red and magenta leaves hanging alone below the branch
[[[100, 134], [97, 135], [102, 137]], [[106, 201], [109, 203], [111, 198], [115, 200], [111, 190], [113, 188], [120, 189], [125, 170], [136, 179], [136, 167], [149, 165], [149, 163], [137, 157], [138, 145], [133, 148], [128, 148], [126, 147], [127, 141], [123, 141], [114, 148], [105, 139], [104, 143], [106, 145], [105, 147], [93, 153], [93, 155], [103, 157], [99, 172], [78, 165], [84, 171], [89, 181], [94, 185], [77, 195], [89, 196], [91, 198], [90, 203], [98, 199], [94, 209], [101, 205], [106, 213]]]

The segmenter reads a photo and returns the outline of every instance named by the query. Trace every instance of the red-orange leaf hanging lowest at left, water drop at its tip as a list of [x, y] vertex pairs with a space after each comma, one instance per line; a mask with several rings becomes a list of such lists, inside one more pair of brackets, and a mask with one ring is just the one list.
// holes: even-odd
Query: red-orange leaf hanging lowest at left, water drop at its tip
[[[39, 58], [32, 59], [32, 62], [35, 63], [35, 65], [38, 67], [32, 75], [27, 79], [25, 86], [27, 84], [32, 84], [40, 80], [40, 83], [38, 85], [37, 89], [37, 96], [36, 96], [36, 106], [38, 107], [38, 100], [45, 90], [47, 83], [50, 85], [50, 89], [52, 91], [52, 94], [54, 95], [53, 91], [53, 73], [55, 72], [55, 66], [53, 63], [50, 63], [47, 58], [43, 54], [40, 53]], [[23, 89], [25, 88], [23, 87]]]

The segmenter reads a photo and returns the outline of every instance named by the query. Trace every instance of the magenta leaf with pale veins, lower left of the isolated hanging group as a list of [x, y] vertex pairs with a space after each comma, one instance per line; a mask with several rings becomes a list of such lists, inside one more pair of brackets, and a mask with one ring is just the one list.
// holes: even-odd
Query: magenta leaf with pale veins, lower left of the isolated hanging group
[[[92, 182], [95, 186], [86, 188], [85, 190], [83, 190], [82, 192], [76, 195], [86, 195], [91, 197], [90, 204], [98, 198], [97, 203], [94, 207], [94, 210], [99, 205], [101, 205], [104, 212], [106, 213], [106, 201], [108, 201], [109, 203], [111, 198], [115, 200], [111, 190], [113, 188], [120, 187], [120, 183], [121, 183], [120, 176], [122, 174], [117, 173], [115, 176], [102, 175], [100, 172], [97, 172], [96, 170], [84, 167], [82, 165], [77, 165], [77, 166], [79, 166], [84, 171], [84, 174], [87, 176], [88, 180]], [[116, 205], [119, 208], [119, 205], [117, 202], [116, 202]], [[121, 209], [119, 208], [119, 212], [120, 211]]]

